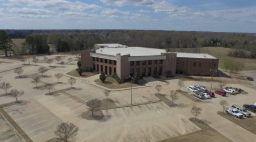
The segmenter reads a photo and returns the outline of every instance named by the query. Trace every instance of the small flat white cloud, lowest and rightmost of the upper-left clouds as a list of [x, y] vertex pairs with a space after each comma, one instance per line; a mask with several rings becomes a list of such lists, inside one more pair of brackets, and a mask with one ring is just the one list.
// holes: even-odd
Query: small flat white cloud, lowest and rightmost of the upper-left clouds
[[97, 18], [98, 15], [96, 14], [87, 14], [82, 12], [60, 12], [57, 17], [60, 18]]

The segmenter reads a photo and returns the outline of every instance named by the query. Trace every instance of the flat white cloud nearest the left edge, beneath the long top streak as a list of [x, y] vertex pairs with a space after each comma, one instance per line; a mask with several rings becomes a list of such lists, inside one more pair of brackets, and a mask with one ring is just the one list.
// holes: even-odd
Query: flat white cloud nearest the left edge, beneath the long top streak
[[24, 14], [24, 15], [48, 15], [48, 14], [53, 14], [53, 11], [49, 10], [43, 10], [43, 9], [29, 9], [26, 7], [23, 8], [11, 8], [9, 9], [9, 12], [15, 13], [15, 14]]

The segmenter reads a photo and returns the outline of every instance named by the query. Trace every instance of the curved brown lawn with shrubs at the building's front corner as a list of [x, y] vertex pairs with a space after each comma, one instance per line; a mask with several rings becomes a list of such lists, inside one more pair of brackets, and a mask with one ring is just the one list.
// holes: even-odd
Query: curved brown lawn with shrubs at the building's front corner
[[[94, 82], [96, 82], [97, 85], [101, 85], [101, 86], [107, 87], [109, 89], [122, 89], [122, 88], [131, 87], [130, 82], [125, 82], [125, 83], [118, 85], [117, 82], [112, 80], [112, 78], [108, 78], [108, 77], [106, 78], [104, 83], [102, 83], [100, 79], [94, 80]], [[138, 84], [132, 83], [132, 86], [133, 87], [143, 86], [146, 83], [147, 83], [146, 81], [141, 79], [141, 80], [139, 80]]]

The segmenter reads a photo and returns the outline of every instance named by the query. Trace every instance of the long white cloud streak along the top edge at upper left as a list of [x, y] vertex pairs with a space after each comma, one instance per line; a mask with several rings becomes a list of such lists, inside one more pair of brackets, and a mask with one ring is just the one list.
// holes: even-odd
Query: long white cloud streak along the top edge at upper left
[[58, 9], [63, 11], [96, 11], [101, 9], [101, 6], [88, 5], [80, 1], [69, 2], [64, 0], [47, 0], [47, 1], [35, 1], [35, 0], [9, 0], [11, 5], [24, 5], [24, 6], [37, 6], [43, 9]]

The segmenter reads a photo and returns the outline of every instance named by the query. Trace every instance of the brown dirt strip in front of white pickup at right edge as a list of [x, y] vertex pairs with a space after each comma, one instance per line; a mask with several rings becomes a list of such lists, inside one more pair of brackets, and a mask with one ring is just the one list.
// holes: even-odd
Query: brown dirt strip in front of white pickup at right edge
[[250, 118], [237, 119], [232, 115], [225, 114], [225, 112], [218, 111], [217, 114], [256, 135], [256, 118], [255, 117], [251, 116]]

